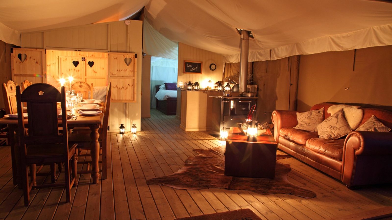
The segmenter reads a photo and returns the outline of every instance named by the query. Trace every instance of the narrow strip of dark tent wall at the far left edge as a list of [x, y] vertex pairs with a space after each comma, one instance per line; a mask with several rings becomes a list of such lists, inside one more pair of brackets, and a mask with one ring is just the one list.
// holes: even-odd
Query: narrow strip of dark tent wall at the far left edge
[[[0, 83], [11, 80], [11, 47], [13, 45], [0, 40]], [[21, 83], [21, 82], [17, 82]], [[3, 89], [0, 89], [0, 108], [4, 108]]]

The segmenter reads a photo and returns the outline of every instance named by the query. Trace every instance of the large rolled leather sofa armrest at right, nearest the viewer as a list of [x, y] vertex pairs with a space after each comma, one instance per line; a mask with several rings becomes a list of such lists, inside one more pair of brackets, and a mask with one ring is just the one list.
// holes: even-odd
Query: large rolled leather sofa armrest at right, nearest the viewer
[[347, 186], [392, 182], [392, 132], [354, 131], [343, 146], [342, 182]]

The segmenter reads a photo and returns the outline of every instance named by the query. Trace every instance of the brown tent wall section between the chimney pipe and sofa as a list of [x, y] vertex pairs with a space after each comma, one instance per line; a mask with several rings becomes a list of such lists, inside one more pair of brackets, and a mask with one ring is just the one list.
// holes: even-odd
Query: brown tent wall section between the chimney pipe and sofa
[[257, 85], [258, 121], [271, 123], [275, 109], [295, 110], [299, 56], [253, 62], [253, 84]]

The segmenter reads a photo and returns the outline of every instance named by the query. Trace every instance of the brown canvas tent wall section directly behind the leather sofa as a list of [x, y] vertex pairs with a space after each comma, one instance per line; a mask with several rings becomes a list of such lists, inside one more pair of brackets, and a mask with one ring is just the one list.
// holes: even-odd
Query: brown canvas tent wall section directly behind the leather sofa
[[301, 55], [297, 110], [328, 101], [392, 106], [391, 85], [392, 46]]

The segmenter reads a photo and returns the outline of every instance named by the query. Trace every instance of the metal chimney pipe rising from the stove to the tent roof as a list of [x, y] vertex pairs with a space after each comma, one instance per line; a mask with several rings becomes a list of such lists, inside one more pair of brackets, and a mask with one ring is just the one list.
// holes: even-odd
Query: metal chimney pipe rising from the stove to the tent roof
[[246, 92], [248, 85], [248, 54], [249, 54], [249, 32], [241, 30], [241, 54], [240, 54], [240, 95]]

